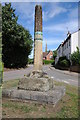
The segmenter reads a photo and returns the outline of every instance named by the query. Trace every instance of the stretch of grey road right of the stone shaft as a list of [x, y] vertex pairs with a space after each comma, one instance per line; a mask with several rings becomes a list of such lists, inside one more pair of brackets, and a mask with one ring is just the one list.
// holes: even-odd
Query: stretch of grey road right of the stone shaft
[[48, 68], [48, 66], [45, 66], [44, 70], [56, 81], [78, 86], [78, 80], [80, 79], [80, 75], [77, 73], [58, 70], [53, 67]]

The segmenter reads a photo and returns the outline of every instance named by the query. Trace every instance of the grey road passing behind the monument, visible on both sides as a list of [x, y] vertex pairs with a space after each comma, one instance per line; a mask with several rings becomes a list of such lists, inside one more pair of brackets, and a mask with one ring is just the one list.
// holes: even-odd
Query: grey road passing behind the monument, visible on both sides
[[[6, 71], [3, 73], [3, 81], [23, 78], [24, 75], [28, 74], [32, 70], [33, 66], [30, 65], [28, 68], [25, 69]], [[51, 67], [50, 65], [43, 66], [43, 70], [56, 81], [78, 86], [80, 75], [78, 75], [77, 73], [58, 70]]]

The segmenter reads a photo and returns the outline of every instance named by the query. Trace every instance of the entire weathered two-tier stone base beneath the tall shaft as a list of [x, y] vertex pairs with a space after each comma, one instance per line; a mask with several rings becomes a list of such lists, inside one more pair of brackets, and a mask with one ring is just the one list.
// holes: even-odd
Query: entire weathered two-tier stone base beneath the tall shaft
[[55, 87], [46, 73], [33, 71], [21, 79], [17, 88], [3, 89], [3, 97], [56, 104], [64, 95], [65, 87]]

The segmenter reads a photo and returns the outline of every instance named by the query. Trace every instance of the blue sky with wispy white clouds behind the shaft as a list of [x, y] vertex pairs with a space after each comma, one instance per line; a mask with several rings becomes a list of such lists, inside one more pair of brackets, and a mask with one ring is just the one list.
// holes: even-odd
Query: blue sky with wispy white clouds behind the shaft
[[[43, 51], [47, 42], [48, 50], [55, 50], [64, 41], [69, 30], [78, 30], [78, 3], [72, 2], [14, 2], [18, 23], [28, 29], [34, 40], [35, 5], [42, 5], [43, 12]], [[33, 51], [31, 56], [33, 57]]]

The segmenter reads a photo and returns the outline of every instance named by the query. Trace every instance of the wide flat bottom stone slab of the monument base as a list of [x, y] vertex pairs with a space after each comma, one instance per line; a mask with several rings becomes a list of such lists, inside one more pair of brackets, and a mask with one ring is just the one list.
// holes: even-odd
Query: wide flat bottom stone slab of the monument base
[[65, 95], [65, 87], [58, 86], [47, 92], [4, 89], [2, 93], [3, 97], [8, 97], [13, 100], [32, 100], [55, 105]]

